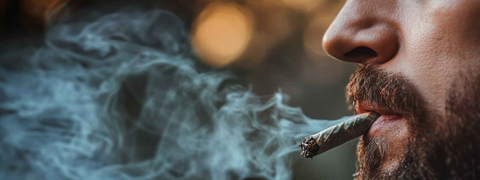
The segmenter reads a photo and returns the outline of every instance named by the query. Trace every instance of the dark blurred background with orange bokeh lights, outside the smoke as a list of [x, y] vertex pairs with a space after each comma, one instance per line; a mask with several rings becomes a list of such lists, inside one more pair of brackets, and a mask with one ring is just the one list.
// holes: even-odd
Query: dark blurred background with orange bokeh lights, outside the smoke
[[[290, 96], [290, 106], [301, 107], [311, 118], [351, 115], [344, 94], [356, 67], [333, 60], [322, 48], [324, 32], [345, 0], [158, 1], [159, 8], [184, 20], [196, 55], [205, 64], [237, 69], [258, 95], [282, 91]], [[92, 3], [0, 0], [1, 38], [41, 36], [48, 25]], [[294, 179], [352, 179], [357, 142], [313, 160], [302, 158], [293, 167]]]

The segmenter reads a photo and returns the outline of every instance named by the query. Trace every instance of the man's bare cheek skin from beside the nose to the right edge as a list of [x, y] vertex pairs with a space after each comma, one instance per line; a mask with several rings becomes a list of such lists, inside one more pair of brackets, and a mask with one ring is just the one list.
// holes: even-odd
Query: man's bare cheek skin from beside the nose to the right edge
[[444, 113], [447, 87], [458, 70], [478, 65], [480, 1], [432, 1], [406, 15], [395, 67], [417, 88], [428, 110]]

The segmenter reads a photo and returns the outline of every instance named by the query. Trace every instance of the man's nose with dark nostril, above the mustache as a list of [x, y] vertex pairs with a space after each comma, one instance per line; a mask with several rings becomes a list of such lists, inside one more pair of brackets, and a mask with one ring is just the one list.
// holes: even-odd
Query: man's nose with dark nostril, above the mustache
[[[329, 55], [361, 64], [383, 64], [395, 57], [399, 47], [395, 24], [388, 15], [367, 5], [370, 7], [349, 0], [338, 13], [323, 38]], [[377, 8], [381, 7], [377, 4]]]

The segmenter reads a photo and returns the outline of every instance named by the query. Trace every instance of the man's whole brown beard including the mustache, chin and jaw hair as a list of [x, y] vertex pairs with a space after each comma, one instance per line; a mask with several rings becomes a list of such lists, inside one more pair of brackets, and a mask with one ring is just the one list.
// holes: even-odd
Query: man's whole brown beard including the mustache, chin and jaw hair
[[[459, 72], [448, 88], [442, 113], [426, 110], [415, 86], [400, 74], [361, 65], [347, 86], [349, 104], [368, 101], [403, 116], [408, 126], [406, 151], [394, 168], [382, 169], [389, 149], [388, 135], [360, 137], [358, 180], [478, 179], [480, 178], [480, 76]], [[467, 75], [468, 74], [468, 75]]]

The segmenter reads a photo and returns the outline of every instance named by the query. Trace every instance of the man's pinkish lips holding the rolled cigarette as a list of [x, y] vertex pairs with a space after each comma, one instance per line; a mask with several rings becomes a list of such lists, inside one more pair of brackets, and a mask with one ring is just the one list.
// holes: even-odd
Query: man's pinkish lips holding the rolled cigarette
[[374, 106], [364, 101], [355, 101], [354, 108], [357, 113], [374, 111], [381, 114], [381, 116], [373, 122], [370, 130], [365, 133], [367, 138], [374, 137], [379, 131], [394, 131], [395, 124], [403, 119], [400, 114], [397, 114], [390, 108]]

